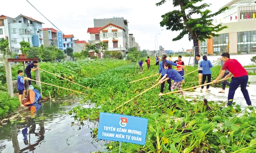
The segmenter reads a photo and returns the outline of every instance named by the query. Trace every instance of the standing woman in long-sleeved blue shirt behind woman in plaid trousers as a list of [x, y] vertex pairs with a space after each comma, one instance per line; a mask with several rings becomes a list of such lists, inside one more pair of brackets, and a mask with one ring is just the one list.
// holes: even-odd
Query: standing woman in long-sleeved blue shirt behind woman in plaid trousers
[[[177, 66], [178, 64], [176, 63], [173, 63], [172, 61], [168, 61], [166, 60], [167, 59], [167, 56], [166, 55], [163, 55], [163, 61], [160, 62], [160, 65], [159, 65], [159, 71], [158, 71], [158, 75], [161, 74], [162, 78], [164, 77], [164, 75], [166, 74], [167, 72], [167, 69], [164, 69], [164, 64], [165, 63], [169, 63], [171, 65], [174, 65], [174, 66]], [[182, 65], [178, 65], [178, 66], [182, 66]], [[172, 86], [172, 83], [171, 83], [171, 79], [168, 79], [167, 80], [167, 83], [169, 84], [169, 90], [171, 91], [171, 86]], [[165, 81], [161, 84], [161, 90], [160, 90], [160, 94], [163, 94], [164, 92], [164, 84], [165, 84]], [[159, 94], [159, 95], [160, 95]]]

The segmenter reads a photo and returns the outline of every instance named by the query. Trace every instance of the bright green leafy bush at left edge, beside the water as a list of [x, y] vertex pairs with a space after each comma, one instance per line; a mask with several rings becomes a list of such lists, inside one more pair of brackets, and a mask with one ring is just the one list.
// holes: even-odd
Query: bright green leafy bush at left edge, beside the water
[[0, 90], [0, 118], [15, 111], [20, 106], [18, 98], [11, 98], [7, 92]]

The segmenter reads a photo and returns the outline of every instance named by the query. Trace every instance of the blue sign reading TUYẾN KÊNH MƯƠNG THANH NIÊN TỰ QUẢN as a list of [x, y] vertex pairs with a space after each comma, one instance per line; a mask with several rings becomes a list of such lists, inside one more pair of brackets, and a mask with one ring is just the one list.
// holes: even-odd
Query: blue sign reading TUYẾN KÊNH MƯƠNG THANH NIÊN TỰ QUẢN
[[148, 119], [113, 113], [100, 113], [97, 139], [145, 145]]

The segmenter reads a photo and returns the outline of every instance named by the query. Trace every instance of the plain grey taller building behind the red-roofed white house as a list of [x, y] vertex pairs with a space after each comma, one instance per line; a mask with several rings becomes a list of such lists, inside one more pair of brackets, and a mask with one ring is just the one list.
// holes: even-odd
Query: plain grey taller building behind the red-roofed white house
[[124, 49], [125, 53], [129, 51], [129, 31], [128, 31], [128, 21], [124, 18], [104, 18], [104, 19], [93, 19], [94, 27], [104, 27], [109, 23], [117, 25], [123, 28], [123, 38], [124, 38]]

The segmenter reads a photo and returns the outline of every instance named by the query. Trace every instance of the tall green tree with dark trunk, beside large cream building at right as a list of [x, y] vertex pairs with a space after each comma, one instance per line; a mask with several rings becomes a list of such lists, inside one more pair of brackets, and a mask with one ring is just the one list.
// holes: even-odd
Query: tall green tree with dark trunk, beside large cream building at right
[[[199, 6], [195, 6], [197, 2], [202, 2], [203, 0], [173, 0], [173, 6], [179, 6], [179, 10], [170, 11], [161, 17], [163, 20], [160, 22], [160, 26], [166, 26], [167, 30], [172, 31], [181, 31], [180, 34], [174, 38], [172, 41], [178, 41], [183, 38], [186, 34], [188, 34], [189, 41], [193, 40], [193, 44], [195, 47], [195, 55], [199, 54], [198, 41], [205, 41], [207, 38], [210, 39], [211, 36], [219, 36], [216, 32], [221, 31], [222, 29], [227, 28], [226, 26], [221, 26], [218, 24], [214, 26], [212, 24], [213, 18], [225, 10], [228, 7], [224, 7], [215, 13], [211, 13], [210, 10], [206, 9], [202, 11], [206, 7], [210, 5], [204, 3]], [[161, 2], [156, 3], [156, 6], [163, 5], [166, 0], [161, 0]], [[192, 18], [192, 15], [200, 14], [200, 18]], [[195, 57], [194, 57], [195, 58]], [[198, 61], [195, 60], [195, 64]]]

